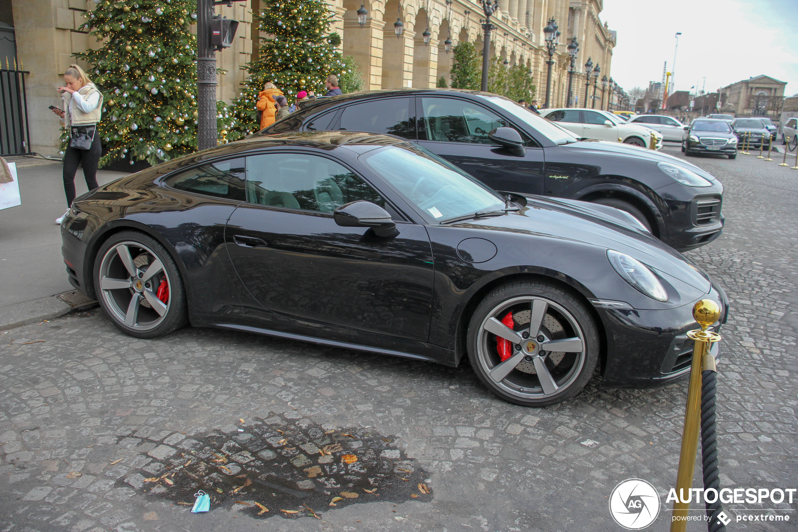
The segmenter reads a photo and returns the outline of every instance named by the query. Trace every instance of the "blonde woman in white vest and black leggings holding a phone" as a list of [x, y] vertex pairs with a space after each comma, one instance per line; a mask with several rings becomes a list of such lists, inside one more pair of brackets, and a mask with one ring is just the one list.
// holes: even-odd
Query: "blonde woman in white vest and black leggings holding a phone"
[[78, 164], [83, 166], [86, 187], [90, 191], [97, 188], [97, 166], [102, 155], [97, 122], [102, 115], [103, 96], [77, 65], [69, 65], [64, 73], [64, 86], [58, 87], [57, 91], [61, 93], [64, 108], [53, 108], [53, 113], [61, 117], [69, 132], [63, 171], [67, 209], [63, 216], [55, 220], [60, 225], [75, 199], [75, 172]]

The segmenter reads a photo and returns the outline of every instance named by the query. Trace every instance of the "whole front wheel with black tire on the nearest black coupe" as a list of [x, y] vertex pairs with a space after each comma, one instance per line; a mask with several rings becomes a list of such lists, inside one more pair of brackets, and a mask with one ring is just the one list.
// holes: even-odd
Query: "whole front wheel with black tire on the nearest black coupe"
[[[524, 345], [520, 349], [508, 342], [514, 354], [506, 361], [512, 367], [500, 368], [498, 337], [485, 327], [496, 327], [491, 318], [501, 320], [504, 313], [512, 313], [518, 320], [512, 330], [521, 334], [526, 328], [528, 332], [527, 324], [535, 319], [535, 312], [542, 317], [538, 336], [522, 340]], [[504, 325], [500, 327], [509, 331]], [[509, 332], [511, 337], [513, 334], [516, 333]], [[542, 350], [546, 345], [555, 345], [548, 344], [551, 340], [569, 342], [569, 350], [556, 353]], [[586, 305], [563, 286], [547, 280], [508, 282], [492, 290], [471, 317], [467, 342], [468, 358], [485, 387], [522, 406], [543, 407], [575, 396], [591, 379], [599, 361], [599, 331]], [[546, 379], [539, 378], [539, 369], [541, 374], [546, 373]], [[491, 372], [496, 376], [496, 371], [505, 372], [498, 382], [491, 376]], [[548, 392], [544, 391], [552, 385]]]

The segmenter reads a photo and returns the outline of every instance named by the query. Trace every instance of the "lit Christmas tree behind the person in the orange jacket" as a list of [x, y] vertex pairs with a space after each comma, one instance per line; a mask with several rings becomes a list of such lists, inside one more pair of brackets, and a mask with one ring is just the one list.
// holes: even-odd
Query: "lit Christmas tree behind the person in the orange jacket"
[[341, 37], [327, 34], [333, 13], [324, 0], [277, 0], [261, 6], [253, 23], [273, 37], [261, 38], [258, 59], [247, 64], [249, 77], [231, 105], [230, 114], [237, 121], [231, 140], [260, 129], [255, 104], [267, 81], [292, 103], [292, 96], [302, 90], [323, 95], [327, 76], [346, 70], [336, 49]]

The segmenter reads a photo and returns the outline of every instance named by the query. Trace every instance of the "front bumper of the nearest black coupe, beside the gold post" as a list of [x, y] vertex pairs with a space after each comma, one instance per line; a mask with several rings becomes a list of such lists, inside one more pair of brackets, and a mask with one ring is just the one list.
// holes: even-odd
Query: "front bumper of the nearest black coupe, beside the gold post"
[[[713, 284], [704, 298], [721, 305], [721, 319], [710, 327], [719, 332], [728, 318], [729, 301]], [[702, 298], [702, 299], [704, 299]], [[689, 375], [693, 341], [687, 332], [699, 329], [693, 305], [668, 310], [596, 309], [606, 329], [606, 365], [602, 384], [619, 388], [649, 388]], [[722, 346], [713, 346], [716, 358]]]

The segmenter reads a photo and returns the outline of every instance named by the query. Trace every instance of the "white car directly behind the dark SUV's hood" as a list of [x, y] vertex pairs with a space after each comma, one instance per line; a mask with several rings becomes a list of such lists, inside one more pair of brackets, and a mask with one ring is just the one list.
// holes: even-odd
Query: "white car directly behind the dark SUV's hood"
[[541, 109], [540, 115], [587, 139], [662, 148], [662, 135], [640, 124], [627, 124], [611, 112], [587, 108]]

